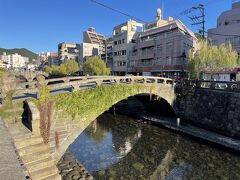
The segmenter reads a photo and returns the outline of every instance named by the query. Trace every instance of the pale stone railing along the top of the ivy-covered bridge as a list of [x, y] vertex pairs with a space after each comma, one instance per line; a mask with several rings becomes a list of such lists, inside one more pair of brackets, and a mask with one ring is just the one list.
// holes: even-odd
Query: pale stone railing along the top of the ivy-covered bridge
[[[82, 87], [95, 87], [96, 85], [107, 84], [166, 84], [174, 85], [174, 80], [169, 78], [152, 77], [152, 76], [79, 76], [46, 79], [45, 83], [50, 91], [64, 88], [79, 90]], [[37, 93], [37, 81], [32, 83], [20, 83], [14, 95], [24, 95], [27, 93]]]

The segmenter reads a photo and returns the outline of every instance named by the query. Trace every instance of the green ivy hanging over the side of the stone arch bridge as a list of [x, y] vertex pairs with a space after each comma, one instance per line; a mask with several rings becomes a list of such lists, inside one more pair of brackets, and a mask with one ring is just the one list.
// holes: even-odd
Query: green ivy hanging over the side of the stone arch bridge
[[55, 102], [55, 109], [61, 114], [60, 117], [78, 120], [100, 115], [117, 102], [134, 96], [146, 88], [151, 92], [155, 87], [146, 87], [143, 84], [97, 86], [94, 89], [59, 94], [52, 98]]

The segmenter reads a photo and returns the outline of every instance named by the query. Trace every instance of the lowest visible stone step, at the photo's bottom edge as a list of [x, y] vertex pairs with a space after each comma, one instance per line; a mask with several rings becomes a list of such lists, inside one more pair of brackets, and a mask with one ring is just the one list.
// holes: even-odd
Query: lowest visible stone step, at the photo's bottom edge
[[44, 178], [46, 179], [55, 174], [58, 174], [58, 169], [56, 166], [52, 166], [52, 167], [46, 167], [46, 168], [34, 171], [30, 173], [30, 176], [32, 180], [40, 180]]

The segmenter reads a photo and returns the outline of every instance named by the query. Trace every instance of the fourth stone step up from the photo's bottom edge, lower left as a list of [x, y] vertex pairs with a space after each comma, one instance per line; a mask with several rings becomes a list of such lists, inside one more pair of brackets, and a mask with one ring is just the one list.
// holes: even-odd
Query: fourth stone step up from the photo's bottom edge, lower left
[[47, 145], [45, 145], [43, 142], [39, 143], [39, 144], [35, 144], [35, 145], [29, 145], [23, 148], [18, 149], [18, 153], [20, 156], [23, 156], [25, 154], [34, 154], [37, 152], [41, 152], [44, 150], [47, 150]]

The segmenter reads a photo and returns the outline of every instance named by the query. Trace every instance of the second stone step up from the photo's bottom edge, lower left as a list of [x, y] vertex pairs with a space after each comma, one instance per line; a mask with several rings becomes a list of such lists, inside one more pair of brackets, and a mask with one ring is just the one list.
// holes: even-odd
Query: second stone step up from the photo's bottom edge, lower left
[[27, 164], [25, 164], [25, 166], [26, 166], [28, 172], [32, 173], [34, 171], [38, 171], [38, 170], [43, 169], [43, 168], [55, 166], [55, 163], [54, 163], [52, 157], [49, 156], [45, 159], [41, 159], [41, 160], [38, 160], [38, 161], [35, 161], [35, 162], [27, 163]]

